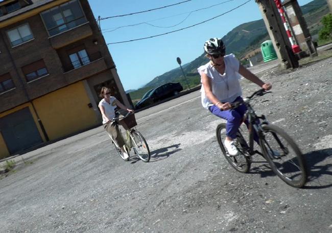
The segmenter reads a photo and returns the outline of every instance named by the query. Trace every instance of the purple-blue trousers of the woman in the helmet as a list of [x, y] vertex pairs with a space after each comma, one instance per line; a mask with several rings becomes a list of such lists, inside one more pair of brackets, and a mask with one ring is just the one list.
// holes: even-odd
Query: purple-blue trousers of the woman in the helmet
[[[236, 101], [243, 101], [243, 99], [241, 96], [239, 96], [234, 100], [234, 102]], [[243, 116], [247, 111], [246, 105], [242, 104], [236, 109], [226, 111], [220, 111], [220, 109], [216, 105], [212, 105], [211, 107], [209, 107], [209, 111], [217, 117], [227, 120], [226, 136], [230, 137], [231, 139], [235, 139], [236, 132], [238, 132], [242, 123]], [[245, 123], [248, 128], [248, 121], [246, 120]], [[258, 142], [258, 136], [256, 133], [254, 134], [254, 140]]]

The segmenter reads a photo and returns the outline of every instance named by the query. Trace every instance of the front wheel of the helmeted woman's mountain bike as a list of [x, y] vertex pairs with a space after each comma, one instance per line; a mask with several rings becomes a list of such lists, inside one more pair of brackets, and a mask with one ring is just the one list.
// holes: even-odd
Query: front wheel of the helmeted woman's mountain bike
[[303, 187], [308, 172], [297, 144], [276, 125], [263, 125], [262, 129], [264, 137], [259, 137], [260, 147], [273, 172], [288, 185]]

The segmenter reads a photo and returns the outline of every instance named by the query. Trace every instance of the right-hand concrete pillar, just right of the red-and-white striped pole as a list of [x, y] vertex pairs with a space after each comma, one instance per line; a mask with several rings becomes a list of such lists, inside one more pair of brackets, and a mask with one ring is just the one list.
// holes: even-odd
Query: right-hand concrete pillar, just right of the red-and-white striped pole
[[299, 58], [309, 55], [312, 57], [317, 56], [316, 47], [312, 41], [311, 34], [302, 16], [302, 11], [297, 0], [286, 0], [282, 5], [286, 10], [288, 23], [292, 28], [292, 34], [295, 36], [297, 45], [299, 45], [301, 49]]

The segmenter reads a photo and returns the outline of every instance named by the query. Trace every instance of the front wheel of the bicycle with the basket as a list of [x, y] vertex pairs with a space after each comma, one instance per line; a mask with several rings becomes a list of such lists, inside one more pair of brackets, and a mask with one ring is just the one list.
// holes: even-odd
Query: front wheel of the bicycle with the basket
[[[143, 137], [143, 135], [139, 131], [131, 132], [132, 137], [131, 144], [135, 154], [142, 160], [143, 162], [150, 161], [150, 149], [147, 141]], [[133, 141], [134, 140], [134, 141]]]

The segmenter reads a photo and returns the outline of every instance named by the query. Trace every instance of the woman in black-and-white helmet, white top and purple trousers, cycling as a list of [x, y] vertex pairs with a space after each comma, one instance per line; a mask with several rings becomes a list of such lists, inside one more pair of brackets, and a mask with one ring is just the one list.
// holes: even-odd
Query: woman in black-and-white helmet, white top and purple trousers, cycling
[[243, 67], [233, 54], [225, 55], [225, 45], [220, 38], [207, 40], [204, 50], [210, 61], [197, 69], [202, 82], [202, 105], [212, 114], [227, 120], [225, 146], [229, 155], [235, 156], [238, 150], [233, 140], [247, 108], [242, 104], [231, 109], [230, 103], [242, 100], [241, 75], [265, 90], [270, 90], [272, 85]]

